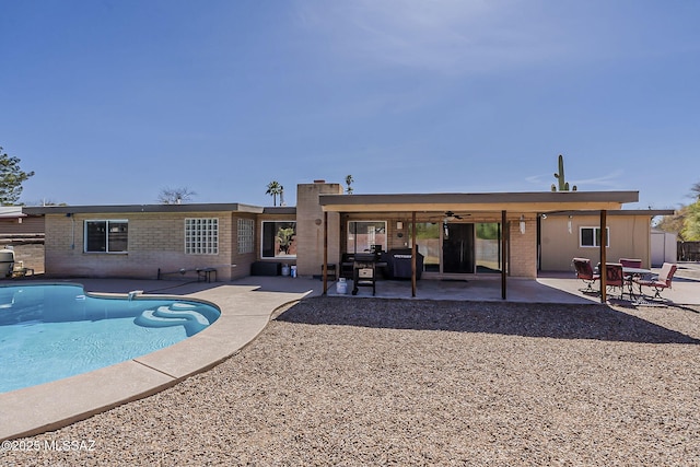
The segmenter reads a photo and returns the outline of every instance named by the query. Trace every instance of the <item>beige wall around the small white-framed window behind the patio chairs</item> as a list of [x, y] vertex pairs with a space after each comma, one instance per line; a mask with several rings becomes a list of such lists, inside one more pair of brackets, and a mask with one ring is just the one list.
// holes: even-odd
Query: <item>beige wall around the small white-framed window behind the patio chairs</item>
[[[620, 258], [638, 258], [643, 267], [651, 261], [651, 219], [649, 215], [615, 215], [608, 213], [607, 226], [610, 244], [607, 249], [608, 262]], [[600, 225], [599, 215], [573, 215], [571, 233], [567, 215], [549, 215], [541, 220], [541, 270], [573, 271], [574, 257], [588, 258], [593, 265], [600, 261], [599, 247], [581, 247], [580, 229]]]

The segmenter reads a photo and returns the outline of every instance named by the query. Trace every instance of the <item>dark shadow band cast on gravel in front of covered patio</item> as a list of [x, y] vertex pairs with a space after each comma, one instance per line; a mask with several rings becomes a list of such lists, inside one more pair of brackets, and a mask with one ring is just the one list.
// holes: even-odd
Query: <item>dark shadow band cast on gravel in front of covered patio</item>
[[313, 297], [290, 307], [276, 320], [556, 339], [700, 343], [699, 339], [597, 304], [500, 304]]

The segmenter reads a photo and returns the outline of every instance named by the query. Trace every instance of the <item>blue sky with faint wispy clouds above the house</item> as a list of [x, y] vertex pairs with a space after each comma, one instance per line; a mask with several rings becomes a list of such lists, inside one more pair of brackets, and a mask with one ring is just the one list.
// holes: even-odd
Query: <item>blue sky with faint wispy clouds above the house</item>
[[700, 182], [696, 0], [0, 0], [0, 145], [21, 201], [288, 205]]

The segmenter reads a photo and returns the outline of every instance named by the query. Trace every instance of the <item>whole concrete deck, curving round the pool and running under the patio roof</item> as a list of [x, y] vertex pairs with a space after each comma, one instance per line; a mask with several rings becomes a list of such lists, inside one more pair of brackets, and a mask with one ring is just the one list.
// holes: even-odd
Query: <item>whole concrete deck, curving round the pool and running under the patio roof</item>
[[[664, 296], [668, 305], [700, 304], [700, 266]], [[30, 280], [28, 282], [32, 282]], [[267, 326], [281, 307], [320, 295], [317, 279], [248, 277], [232, 282], [182, 282], [128, 279], [72, 279], [93, 293], [142, 290], [144, 294], [184, 296], [217, 304], [222, 314], [211, 327], [174, 346], [91, 373], [0, 394], [0, 441], [56, 430], [94, 413], [140, 399], [206, 371], [235, 354]], [[21, 284], [23, 281], [2, 281]], [[544, 275], [535, 280], [509, 279], [508, 302], [595, 304], [599, 299], [580, 291], [582, 282], [570, 273]], [[371, 297], [361, 288], [357, 296]], [[377, 299], [409, 299], [410, 281], [377, 282]], [[337, 295], [329, 282], [329, 295]], [[501, 301], [500, 280], [419, 281], [413, 300]]]

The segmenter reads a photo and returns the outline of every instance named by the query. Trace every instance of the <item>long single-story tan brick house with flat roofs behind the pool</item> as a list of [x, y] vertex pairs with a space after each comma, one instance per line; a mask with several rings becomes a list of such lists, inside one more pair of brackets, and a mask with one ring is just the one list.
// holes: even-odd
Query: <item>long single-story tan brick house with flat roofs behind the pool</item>
[[343, 255], [416, 245], [424, 279], [505, 279], [571, 270], [573, 256], [595, 260], [606, 220], [608, 258], [638, 257], [649, 266], [651, 217], [673, 211], [621, 210], [638, 198], [637, 191], [343, 195], [341, 185], [315, 180], [298, 186], [296, 207], [54, 206], [24, 212], [45, 218], [48, 276], [152, 279], [213, 268], [218, 280], [228, 281], [279, 273], [281, 265], [320, 276], [324, 265], [340, 265]]

